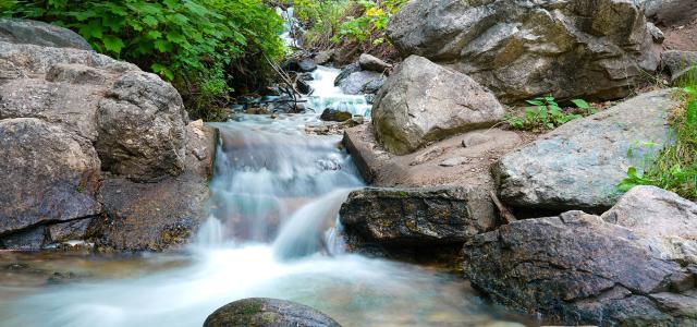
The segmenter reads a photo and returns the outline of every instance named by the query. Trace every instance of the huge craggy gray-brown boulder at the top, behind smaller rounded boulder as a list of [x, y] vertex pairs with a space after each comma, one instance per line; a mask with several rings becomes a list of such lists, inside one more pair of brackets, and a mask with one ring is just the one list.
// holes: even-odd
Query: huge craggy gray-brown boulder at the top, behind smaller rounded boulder
[[503, 102], [622, 98], [658, 68], [644, 12], [627, 0], [415, 0], [388, 36], [404, 56], [448, 64]]

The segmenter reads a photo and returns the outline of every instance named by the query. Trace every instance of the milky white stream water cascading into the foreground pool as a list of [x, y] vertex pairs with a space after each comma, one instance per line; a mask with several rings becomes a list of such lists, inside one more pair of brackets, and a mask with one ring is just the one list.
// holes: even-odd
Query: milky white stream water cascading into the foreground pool
[[[315, 73], [309, 107], [369, 114], [363, 97], [333, 87], [337, 74]], [[249, 296], [301, 302], [344, 326], [517, 319], [482, 303], [458, 276], [343, 253], [339, 207], [364, 183], [340, 136], [305, 135], [317, 122], [318, 113], [306, 113], [213, 124], [221, 142], [211, 216], [183, 253], [0, 254], [0, 326], [200, 326], [216, 308]], [[41, 271], [76, 278], [46, 283]]]

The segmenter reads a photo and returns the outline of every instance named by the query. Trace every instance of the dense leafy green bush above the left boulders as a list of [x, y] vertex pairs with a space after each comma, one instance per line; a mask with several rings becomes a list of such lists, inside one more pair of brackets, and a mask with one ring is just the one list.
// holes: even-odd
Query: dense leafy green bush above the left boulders
[[74, 29], [95, 50], [158, 73], [193, 102], [225, 94], [221, 86], [242, 74], [244, 64], [283, 51], [281, 19], [260, 0], [14, 2], [7, 10], [13, 16]]

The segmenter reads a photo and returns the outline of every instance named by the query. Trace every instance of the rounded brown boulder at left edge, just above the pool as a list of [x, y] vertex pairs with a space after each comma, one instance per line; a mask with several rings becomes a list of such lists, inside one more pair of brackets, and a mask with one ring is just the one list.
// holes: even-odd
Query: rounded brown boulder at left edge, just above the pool
[[101, 213], [88, 140], [35, 118], [2, 119], [0, 148], [0, 235]]

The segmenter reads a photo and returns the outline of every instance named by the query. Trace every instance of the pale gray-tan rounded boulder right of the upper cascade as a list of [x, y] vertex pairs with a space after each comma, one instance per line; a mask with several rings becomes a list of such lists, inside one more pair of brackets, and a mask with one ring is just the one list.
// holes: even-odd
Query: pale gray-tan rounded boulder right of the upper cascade
[[503, 114], [497, 98], [469, 76], [417, 56], [396, 68], [372, 106], [376, 136], [396, 155], [491, 126]]

